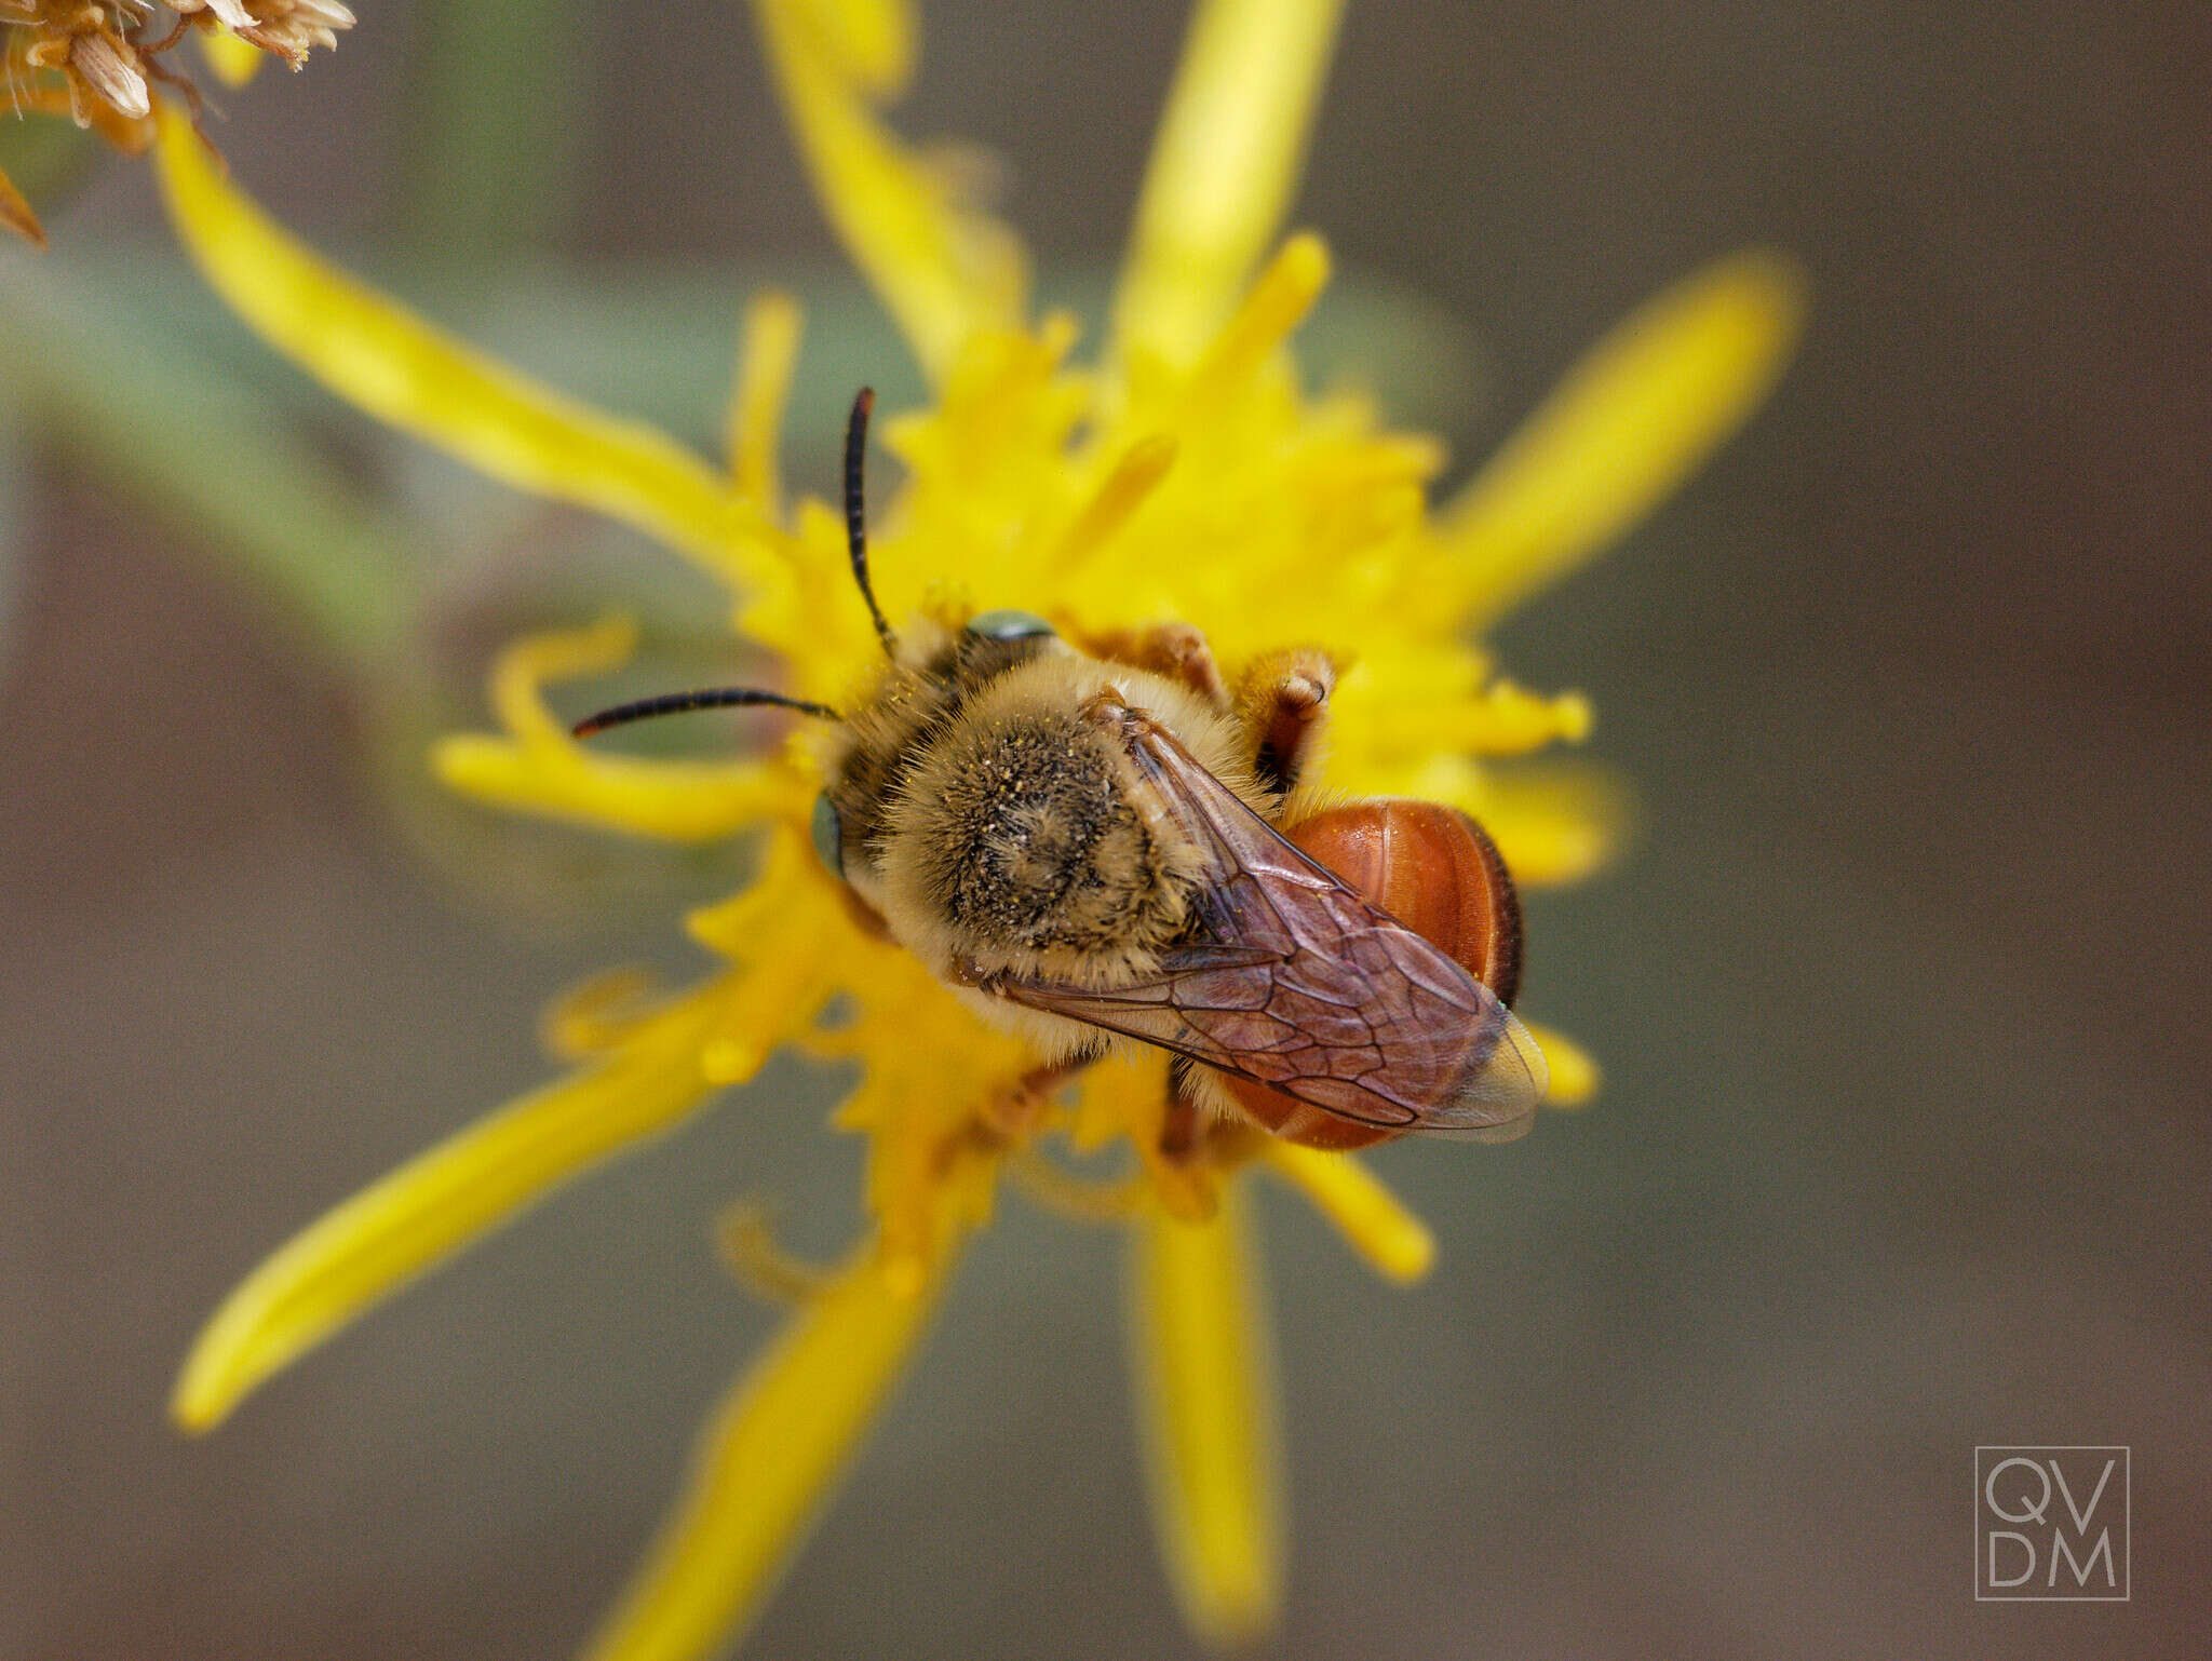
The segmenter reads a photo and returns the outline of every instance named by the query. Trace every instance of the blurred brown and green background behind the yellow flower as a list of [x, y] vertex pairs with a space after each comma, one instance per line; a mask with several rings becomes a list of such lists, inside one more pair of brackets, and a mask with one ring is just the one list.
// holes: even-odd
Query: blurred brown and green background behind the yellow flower
[[[801, 283], [801, 484], [863, 376], [911, 387], [741, 7], [361, 11], [221, 97], [288, 223], [701, 445], [741, 294]], [[900, 126], [995, 150], [1095, 290], [1181, 22], [938, 0]], [[1595, 697], [1641, 796], [1617, 871], [1531, 900], [1526, 1002], [1606, 1093], [1378, 1155], [1440, 1236], [1416, 1292], [1270, 1205], [1272, 1654], [2212, 1648], [2208, 46], [2157, 4], [1354, 7], [1296, 215], [1347, 279], [1307, 345], [1396, 416], [1480, 458], [1741, 243], [1796, 252], [1814, 314], [1743, 438], [1500, 637]], [[206, 1442], [164, 1398], [239, 1274], [538, 1082], [549, 993], [681, 971], [675, 905], [739, 869], [476, 821], [420, 737], [611, 591], [657, 683], [728, 655], [672, 560], [272, 363], [142, 164], [71, 166], [53, 250], [0, 248], [0, 1652], [568, 1654], [774, 1323], [712, 1214], [852, 1228], [832, 1079], [779, 1064]], [[420, 613], [319, 597], [303, 535]], [[745, 1654], [1190, 1650], [1115, 1270], [1006, 1205]], [[1991, 1442], [2132, 1446], [2130, 1603], [1973, 1601]]]

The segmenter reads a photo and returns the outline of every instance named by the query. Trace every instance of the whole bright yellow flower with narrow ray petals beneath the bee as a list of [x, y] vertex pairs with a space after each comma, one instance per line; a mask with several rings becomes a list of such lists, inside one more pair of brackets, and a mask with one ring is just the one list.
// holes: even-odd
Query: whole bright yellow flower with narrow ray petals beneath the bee
[[[1352, 664], [1334, 703], [1332, 785], [1464, 807], [1528, 882], [1593, 869], [1613, 825], [1606, 783], [1498, 765], [1582, 739], [1586, 701], [1513, 686], [1469, 635], [1595, 553], [1743, 420], [1787, 356], [1796, 272], [1747, 252], [1659, 296], [1431, 506], [1440, 447], [1387, 431], [1356, 394], [1310, 394], [1290, 352], [1329, 270], [1316, 237], [1279, 237], [1336, 4], [1201, 2], [1110, 334], [1088, 354], [1073, 318], [1031, 314], [1013, 234], [883, 124], [878, 106], [911, 62], [905, 9], [757, 0], [754, 11], [823, 203], [929, 383], [929, 403], [883, 433], [905, 464], [874, 513], [887, 610], [1020, 606], [1093, 635], [1186, 619], [1230, 666], [1325, 639]], [[728, 453], [710, 460], [334, 270], [239, 195], [181, 119], [164, 119], [159, 155], [208, 279], [338, 396], [697, 562], [728, 586], [734, 630], [783, 657], [794, 694], [836, 701], [876, 661], [841, 513], [787, 502], [779, 482], [801, 332], [790, 299], [745, 312]], [[743, 1626], [1002, 1179], [1128, 1230], [1170, 1579], [1203, 1637], [1263, 1632], [1281, 1601], [1283, 1511], [1243, 1174], [1265, 1170], [1305, 1194], [1391, 1281], [1429, 1267], [1427, 1230], [1349, 1155], [1248, 1135], [1206, 1161], [1166, 1159], [1164, 1057], [1104, 1062], [1035, 1128], [1006, 1130], [989, 1108], [1031, 1057], [854, 924], [810, 847], [821, 781], [803, 739], [690, 763], [571, 741], [546, 686], [615, 670], [630, 650], [622, 619], [511, 646], [491, 675], [498, 732], [447, 739], [434, 765], [480, 801], [637, 836], [754, 832], [754, 882], [688, 920], [719, 967], [672, 995], [613, 978], [557, 1004], [549, 1040], [573, 1070], [356, 1194], [248, 1276], [186, 1362], [177, 1420], [217, 1424], [378, 1298], [792, 1046], [858, 1064], [836, 1124], [867, 1139], [874, 1228], [834, 1270], [785, 1263], [752, 1219], [728, 1230], [748, 1276], [796, 1309], [714, 1415], [688, 1493], [588, 1654], [699, 1657]], [[1540, 1040], [1553, 1099], [1586, 1097], [1593, 1064], [1555, 1033]], [[1130, 1174], [1077, 1179], [1048, 1157], [1057, 1148], [1124, 1148]]]

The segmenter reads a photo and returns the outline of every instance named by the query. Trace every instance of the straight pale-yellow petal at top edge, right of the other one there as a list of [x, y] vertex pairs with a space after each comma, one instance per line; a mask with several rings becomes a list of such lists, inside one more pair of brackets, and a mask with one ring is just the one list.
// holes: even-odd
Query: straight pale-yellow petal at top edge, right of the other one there
[[1117, 349], [1190, 363], [1237, 303], [1298, 188], [1343, 0], [1206, 0], [1168, 93], [1128, 265]]

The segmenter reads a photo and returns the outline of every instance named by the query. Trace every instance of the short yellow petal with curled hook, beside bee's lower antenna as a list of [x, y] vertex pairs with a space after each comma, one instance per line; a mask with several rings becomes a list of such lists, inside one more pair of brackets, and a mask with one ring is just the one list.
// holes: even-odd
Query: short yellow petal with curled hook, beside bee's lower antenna
[[703, 843], [774, 814], [805, 812], [807, 785], [781, 761], [648, 761], [593, 750], [546, 708], [542, 683], [604, 675], [637, 641], [626, 617], [529, 635], [491, 668], [491, 706], [507, 737], [456, 732], [431, 745], [438, 779], [493, 807], [580, 825]]

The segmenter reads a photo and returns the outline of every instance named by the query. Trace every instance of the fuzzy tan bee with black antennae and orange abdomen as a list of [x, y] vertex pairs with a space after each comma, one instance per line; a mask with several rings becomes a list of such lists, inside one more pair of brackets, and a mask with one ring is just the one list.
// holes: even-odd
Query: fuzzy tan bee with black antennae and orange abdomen
[[1312, 812], [1329, 657], [1270, 652], [1230, 683], [1188, 626], [1068, 639], [989, 610], [894, 630], [867, 577], [872, 407], [863, 389], [845, 429], [847, 546], [885, 652], [860, 697], [841, 714], [708, 688], [575, 734], [752, 703], [836, 721], [814, 845], [865, 927], [1042, 1057], [1002, 1108], [1141, 1044], [1172, 1055], [1177, 1157], [1239, 1119], [1316, 1148], [1526, 1130], [1546, 1068], [1509, 1009], [1513, 880], [1451, 807]]

